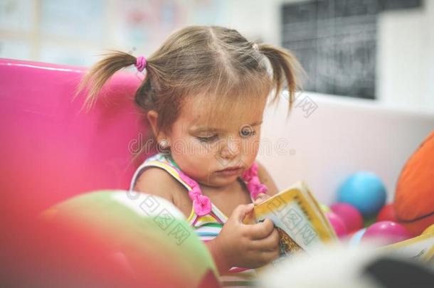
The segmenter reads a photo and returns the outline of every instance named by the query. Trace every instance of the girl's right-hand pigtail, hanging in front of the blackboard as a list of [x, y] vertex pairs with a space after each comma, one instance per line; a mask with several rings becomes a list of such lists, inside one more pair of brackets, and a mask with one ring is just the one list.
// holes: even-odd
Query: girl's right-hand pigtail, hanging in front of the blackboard
[[290, 93], [288, 100], [291, 110], [292, 104], [295, 101], [295, 91], [300, 88], [299, 76], [301, 73], [304, 73], [302, 66], [289, 50], [268, 44], [258, 45], [258, 50], [270, 61], [272, 82], [275, 86], [275, 97], [272, 99], [272, 102], [279, 99], [285, 81]]

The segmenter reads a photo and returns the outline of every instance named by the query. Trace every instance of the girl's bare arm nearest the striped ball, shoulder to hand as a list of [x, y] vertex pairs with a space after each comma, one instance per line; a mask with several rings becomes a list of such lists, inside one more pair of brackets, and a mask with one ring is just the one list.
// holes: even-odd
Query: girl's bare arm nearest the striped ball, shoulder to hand
[[[134, 186], [135, 191], [160, 196], [171, 203], [174, 203], [175, 193], [185, 193], [182, 189], [166, 171], [155, 167], [145, 170]], [[251, 204], [237, 206], [221, 233], [206, 242], [220, 274], [226, 274], [234, 266], [261, 267], [279, 255], [279, 234], [270, 220], [255, 225], [243, 224], [245, 215], [252, 208]]]

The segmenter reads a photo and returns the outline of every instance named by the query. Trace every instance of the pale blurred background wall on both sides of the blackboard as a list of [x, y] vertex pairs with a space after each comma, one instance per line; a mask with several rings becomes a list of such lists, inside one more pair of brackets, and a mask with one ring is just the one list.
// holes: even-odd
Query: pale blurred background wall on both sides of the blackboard
[[[190, 24], [229, 26], [279, 45], [280, 6], [295, 1], [0, 0], [0, 57], [90, 65], [109, 48], [149, 55]], [[434, 1], [383, 12], [378, 25], [377, 99], [434, 113]]]

